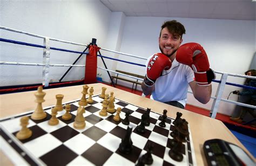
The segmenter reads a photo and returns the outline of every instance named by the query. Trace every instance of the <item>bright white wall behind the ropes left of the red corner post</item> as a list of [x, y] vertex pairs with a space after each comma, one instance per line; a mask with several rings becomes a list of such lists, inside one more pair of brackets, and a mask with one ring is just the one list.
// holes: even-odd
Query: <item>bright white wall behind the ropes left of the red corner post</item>
[[[52, 38], [89, 44], [97, 38], [104, 47], [111, 11], [100, 1], [5, 1], [0, 4], [0, 25]], [[43, 45], [43, 39], [0, 30], [1, 37]], [[51, 47], [84, 51], [85, 47], [50, 41]], [[42, 63], [43, 49], [1, 42], [1, 61]], [[72, 64], [79, 54], [51, 50], [50, 64]], [[85, 56], [77, 64], [85, 64]], [[50, 67], [50, 79], [58, 81], [68, 67]], [[0, 66], [0, 86], [42, 82], [42, 67]], [[84, 67], [73, 67], [63, 81], [84, 78]]]

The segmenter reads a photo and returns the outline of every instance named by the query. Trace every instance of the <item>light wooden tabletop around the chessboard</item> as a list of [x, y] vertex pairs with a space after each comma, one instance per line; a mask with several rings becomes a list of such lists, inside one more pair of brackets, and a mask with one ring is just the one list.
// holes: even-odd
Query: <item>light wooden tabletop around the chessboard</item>
[[[163, 113], [163, 109], [167, 109], [167, 116], [174, 119], [177, 112], [183, 113], [182, 117], [187, 120], [191, 128], [194, 152], [196, 153], [196, 160], [198, 165], [207, 165], [203, 151], [203, 143], [206, 140], [210, 139], [222, 139], [237, 144], [239, 147], [244, 149], [252, 158], [254, 158], [250, 154], [250, 152], [241, 144], [241, 142], [230, 132], [230, 130], [228, 130], [224, 123], [219, 120], [196, 114], [185, 109], [173, 107], [165, 103], [154, 101], [143, 96], [122, 91], [120, 89], [100, 83], [90, 84], [88, 86], [93, 86], [93, 94], [100, 94], [102, 92], [102, 87], [105, 86], [107, 88], [106, 93], [110, 94], [110, 92], [114, 92], [114, 96], [116, 96], [117, 99], [133, 103], [134, 105], [137, 105], [139, 107], [151, 108], [152, 111], [158, 112], [160, 114]], [[45, 102], [43, 102], [43, 107], [55, 105], [56, 94], [64, 95], [63, 102], [79, 99], [82, 97], [82, 90], [82, 85], [44, 89], [43, 91], [46, 93], [46, 95], [44, 97]], [[35, 109], [36, 103], [33, 93], [35, 93], [35, 91], [0, 95], [0, 117], [8, 117]], [[2, 151], [0, 151], [0, 155], [0, 161], [2, 162], [0, 162], [0, 165], [10, 165], [10, 161]]]

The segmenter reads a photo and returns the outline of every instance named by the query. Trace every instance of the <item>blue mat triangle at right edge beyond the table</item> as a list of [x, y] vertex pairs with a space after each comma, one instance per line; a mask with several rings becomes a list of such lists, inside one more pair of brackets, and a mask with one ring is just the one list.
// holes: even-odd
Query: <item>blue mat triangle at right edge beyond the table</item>
[[250, 153], [256, 157], [256, 139], [233, 130], [230, 130], [235, 137], [245, 146], [245, 148], [250, 151]]

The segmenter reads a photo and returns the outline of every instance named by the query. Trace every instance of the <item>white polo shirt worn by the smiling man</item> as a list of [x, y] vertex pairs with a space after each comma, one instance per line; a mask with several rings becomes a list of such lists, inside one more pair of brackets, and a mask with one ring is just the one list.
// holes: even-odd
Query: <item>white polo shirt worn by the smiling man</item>
[[[147, 59], [146, 66], [152, 56]], [[180, 64], [174, 59], [172, 67], [167, 71], [164, 70], [156, 80], [154, 91], [150, 98], [161, 102], [178, 101], [185, 107], [188, 83], [193, 80], [194, 72], [191, 67]]]

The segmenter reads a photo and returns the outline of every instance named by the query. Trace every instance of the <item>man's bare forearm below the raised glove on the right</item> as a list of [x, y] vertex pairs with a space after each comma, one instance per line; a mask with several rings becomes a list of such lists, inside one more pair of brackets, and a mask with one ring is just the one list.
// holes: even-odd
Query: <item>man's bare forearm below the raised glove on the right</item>
[[212, 94], [212, 85], [208, 86], [199, 86], [196, 81], [192, 81], [189, 83], [194, 98], [196, 98], [201, 103], [207, 103], [211, 99]]

